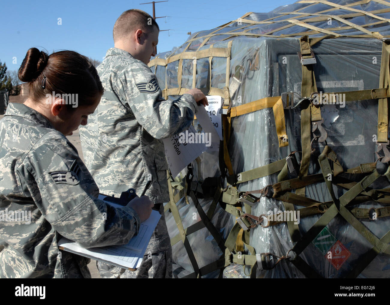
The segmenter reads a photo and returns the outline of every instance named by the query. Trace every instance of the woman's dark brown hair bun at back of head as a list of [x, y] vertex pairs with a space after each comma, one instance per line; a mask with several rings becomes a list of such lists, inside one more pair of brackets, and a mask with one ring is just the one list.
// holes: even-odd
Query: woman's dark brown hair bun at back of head
[[46, 67], [48, 59], [49, 55], [43, 51], [39, 51], [37, 48], [29, 49], [19, 68], [19, 79], [24, 82], [37, 79]]

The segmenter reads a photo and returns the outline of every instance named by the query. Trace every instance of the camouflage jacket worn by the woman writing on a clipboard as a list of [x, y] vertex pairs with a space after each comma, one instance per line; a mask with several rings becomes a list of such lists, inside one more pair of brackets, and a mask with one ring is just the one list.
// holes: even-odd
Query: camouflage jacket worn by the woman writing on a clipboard
[[[90, 277], [89, 259], [59, 252], [61, 236], [89, 248], [125, 244], [138, 233], [137, 213], [96, 199], [76, 148], [34, 109], [9, 104], [0, 145], [0, 278]], [[13, 221], [15, 211], [31, 222]]]

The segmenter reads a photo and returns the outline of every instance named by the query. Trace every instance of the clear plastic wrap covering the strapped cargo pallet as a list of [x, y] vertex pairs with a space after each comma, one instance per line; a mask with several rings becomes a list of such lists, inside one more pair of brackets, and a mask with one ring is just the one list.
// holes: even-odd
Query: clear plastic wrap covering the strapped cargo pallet
[[[353, 1], [337, 1], [337, 4], [347, 5], [350, 9], [374, 12], [380, 18], [390, 18], [389, 6], [374, 1], [365, 1], [363, 4], [359, 2], [358, 5], [353, 5]], [[298, 11], [301, 15], [298, 13], [285, 14], [294, 11]], [[219, 30], [216, 28], [191, 35], [188, 42], [180, 48], [159, 54], [157, 57], [167, 60], [167, 65], [151, 65], [152, 71], [156, 72], [158, 82], [162, 89], [166, 89], [165, 94], [168, 93], [167, 97], [169, 99], [177, 98], [177, 95], [171, 95], [170, 92], [181, 93], [172, 91], [172, 89], [193, 88], [195, 84], [196, 88], [206, 88], [206, 93], [210, 92], [210, 88], [218, 88], [222, 92], [224, 87], [228, 87], [229, 96], [225, 95], [224, 100], [227, 105], [229, 105], [230, 100], [230, 107], [240, 106], [265, 97], [280, 96], [284, 92], [294, 92], [294, 102], [297, 103], [300, 100], [299, 97], [301, 97], [302, 83], [302, 64], [297, 55], [297, 52], [301, 51], [300, 37], [310, 35], [309, 37], [312, 39], [326, 34], [315, 31], [310, 33], [310, 29], [313, 27], [329, 29], [329, 31], [337, 28], [337, 34], [344, 37], [334, 38], [330, 36], [311, 46], [316, 58], [316, 63], [312, 67], [316, 78], [317, 91], [344, 92], [379, 88], [382, 40], [378, 37], [365, 37], [360, 29], [346, 26], [337, 18], [328, 19], [325, 16], [325, 18], [316, 21], [315, 16], [317, 15], [305, 15], [321, 14], [321, 12], [331, 16], [351, 14], [348, 9], [337, 8], [324, 3], [298, 2], [279, 7], [269, 13], [250, 13], [235, 22], [222, 26]], [[368, 29], [369, 32], [379, 32], [383, 36], [390, 34], [390, 25], [387, 21], [381, 22], [381, 19], [369, 15], [357, 15], [347, 20], [358, 26], [363, 25], [363, 28]], [[310, 28], [286, 21], [287, 19], [302, 21], [308, 18], [314, 20], [307, 21], [307, 24], [311, 26]], [[251, 24], [245, 22], [248, 20], [253, 23], [255, 23], [254, 21], [263, 20], [279, 22]], [[367, 24], [370, 25], [366, 26]], [[235, 32], [243, 33], [244, 30], [248, 36], [244, 34], [234, 36]], [[224, 34], [227, 32], [229, 34]], [[215, 33], [218, 33], [218, 35], [213, 35]], [[250, 36], [251, 33], [257, 34], [257, 36]], [[360, 37], [349, 37], [356, 35], [360, 35]], [[369, 35], [367, 34], [367, 36]], [[177, 58], [172, 62], [169, 60], [169, 58], [178, 54], [195, 51], [199, 54], [199, 51], [210, 48], [221, 50], [229, 48], [230, 56], [199, 58], [196, 59], [195, 64], [191, 59], [192, 56], [195, 56], [195, 53], [189, 53], [187, 57]], [[229, 65], [228, 69], [227, 65]], [[194, 68], [196, 69], [195, 81], [193, 81]], [[178, 71], [181, 71], [180, 84], [178, 83]], [[228, 76], [226, 75], [227, 71]], [[347, 102], [340, 99], [339, 104], [321, 105], [320, 109], [327, 139], [326, 143], [313, 141], [312, 148], [314, 152], [310, 157], [308, 175], [322, 172], [318, 157], [323, 152], [326, 144], [335, 152], [344, 171], [359, 167], [360, 164], [375, 162], [378, 159], [375, 155], [377, 147], [375, 141], [373, 141], [378, 131], [378, 99]], [[285, 109], [284, 116], [286, 138], [288, 138], [288, 146], [285, 147], [279, 147], [273, 108], [265, 108], [232, 118], [228, 151], [234, 173], [241, 173], [285, 159], [293, 151], [298, 151], [296, 155], [300, 156], [298, 158], [299, 162], [302, 151], [301, 105], [293, 109]], [[199, 128], [196, 120], [195, 128]], [[310, 139], [313, 139], [312, 134]], [[221, 153], [223, 156], [223, 150]], [[197, 162], [192, 162], [192, 167], [194, 175], [192, 184], [202, 183], [207, 177], [220, 177], [221, 172], [225, 174], [226, 171], [220, 169], [220, 154], [218, 152], [203, 153]], [[184, 169], [181, 176], [184, 177], [185, 175], [186, 170]], [[177, 180], [180, 180], [178, 178]], [[289, 178], [294, 177], [289, 176]], [[237, 188], [239, 192], [260, 190], [266, 185], [276, 182], [278, 182], [278, 173], [240, 183]], [[388, 188], [389, 184], [385, 177], [381, 177], [376, 184], [371, 185], [371, 188], [384, 189]], [[223, 181], [222, 187], [227, 187], [226, 180]], [[345, 188], [335, 185], [335, 183], [333, 183], [333, 190], [337, 198], [340, 198], [347, 191]], [[175, 194], [177, 193], [178, 190], [175, 190]], [[308, 185], [305, 189], [305, 196], [319, 202], [332, 201], [325, 181]], [[176, 204], [184, 229], [195, 225], [197, 222], [202, 222], [191, 197], [188, 196], [187, 198], [188, 203], [182, 197]], [[207, 198], [198, 199], [200, 206], [207, 214], [212, 200]], [[371, 200], [361, 203], [358, 207], [371, 209], [387, 205], [388, 203]], [[223, 206], [223, 204], [218, 203], [211, 217], [211, 222], [216, 227], [218, 234], [226, 239], [236, 223], [236, 217], [227, 213]], [[294, 205], [295, 209], [303, 207]], [[274, 212], [275, 209], [283, 211], [285, 208], [279, 200], [261, 197], [260, 201], [252, 206], [251, 214], [256, 216], [267, 214], [268, 211]], [[243, 210], [245, 210], [244, 207]], [[305, 236], [322, 215], [317, 214], [301, 218], [298, 224], [300, 231], [298, 238], [291, 237], [286, 223], [267, 228], [256, 226], [250, 229], [249, 244], [254, 247], [257, 254], [270, 252], [278, 256], [284, 256], [288, 250], [293, 248], [295, 242], [301, 236]], [[166, 220], [170, 237], [173, 239], [176, 236], [176, 243], [173, 245], [175, 277], [194, 277], [193, 264], [181, 238], [177, 238], [179, 230], [171, 210], [168, 210], [168, 206], [166, 207]], [[368, 218], [358, 218], [358, 220], [379, 239], [390, 228], [389, 217], [381, 217], [375, 221]], [[321, 277], [347, 277], [356, 266], [361, 264], [362, 258], [373, 247], [340, 214], [337, 214], [327, 224], [325, 231], [321, 234], [314, 238], [312, 242], [309, 242], [305, 250], [300, 253], [301, 259]], [[326, 242], [319, 242], [321, 236]], [[318, 238], [320, 239], [317, 240]], [[207, 227], [203, 226], [197, 231], [187, 234], [187, 239], [199, 268], [213, 264], [225, 255]], [[245, 254], [248, 254], [247, 250], [244, 252]], [[328, 259], [328, 252], [339, 255], [339, 259], [333, 261]], [[389, 255], [379, 253], [371, 256], [369, 259], [371, 262], [367, 257], [365, 259], [367, 260], [366, 266], [356, 276], [367, 278], [390, 277]], [[207, 268], [207, 271], [212, 269]], [[214, 269], [214, 271], [206, 274], [201, 272], [201, 276], [246, 278], [249, 275], [249, 268], [237, 264], [227, 266], [223, 272], [221, 266]], [[294, 264], [283, 259], [271, 270], [257, 270], [257, 277], [303, 278], [305, 275]]]

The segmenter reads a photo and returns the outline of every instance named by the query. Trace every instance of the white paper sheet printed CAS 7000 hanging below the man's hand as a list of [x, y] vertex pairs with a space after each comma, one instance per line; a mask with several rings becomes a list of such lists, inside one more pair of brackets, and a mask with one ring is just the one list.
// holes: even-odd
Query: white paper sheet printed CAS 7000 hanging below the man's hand
[[[191, 134], [198, 137], [198, 133], [195, 132], [192, 125], [182, 133], [182, 137], [183, 135], [191, 136]], [[167, 157], [169, 169], [174, 177], [176, 177], [184, 167], [199, 157], [202, 152], [207, 150], [205, 143], [179, 143], [179, 135], [180, 134], [175, 134], [170, 138], [163, 139], [165, 156]]]

